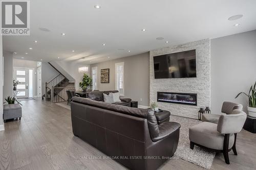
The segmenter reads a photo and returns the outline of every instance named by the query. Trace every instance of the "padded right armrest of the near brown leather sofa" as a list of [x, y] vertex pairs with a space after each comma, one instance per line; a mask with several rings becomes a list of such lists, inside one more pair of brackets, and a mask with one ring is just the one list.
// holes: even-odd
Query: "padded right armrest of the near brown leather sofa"
[[180, 124], [176, 122], [164, 122], [158, 126], [159, 128], [159, 135], [152, 139], [153, 142], [162, 140], [169, 136], [170, 134], [176, 132], [180, 129]]

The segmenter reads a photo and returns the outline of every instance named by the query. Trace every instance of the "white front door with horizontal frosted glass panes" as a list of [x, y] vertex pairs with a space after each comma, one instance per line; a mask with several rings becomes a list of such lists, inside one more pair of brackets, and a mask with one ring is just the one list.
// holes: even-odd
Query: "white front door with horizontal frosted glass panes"
[[14, 80], [19, 81], [17, 85], [17, 98], [28, 98], [29, 70], [25, 68], [14, 68]]

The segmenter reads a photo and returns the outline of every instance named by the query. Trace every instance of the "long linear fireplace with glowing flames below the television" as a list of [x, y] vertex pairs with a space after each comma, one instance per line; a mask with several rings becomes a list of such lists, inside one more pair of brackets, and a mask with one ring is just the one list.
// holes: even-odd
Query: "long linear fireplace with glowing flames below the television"
[[195, 94], [195, 93], [157, 92], [157, 102], [176, 103], [176, 104], [197, 106], [197, 94]]

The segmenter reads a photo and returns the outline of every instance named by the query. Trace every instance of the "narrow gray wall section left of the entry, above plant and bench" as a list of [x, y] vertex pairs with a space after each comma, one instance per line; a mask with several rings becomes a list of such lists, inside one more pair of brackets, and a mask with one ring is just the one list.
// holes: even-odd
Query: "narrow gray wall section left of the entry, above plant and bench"
[[3, 100], [13, 95], [13, 55], [4, 52], [4, 87]]

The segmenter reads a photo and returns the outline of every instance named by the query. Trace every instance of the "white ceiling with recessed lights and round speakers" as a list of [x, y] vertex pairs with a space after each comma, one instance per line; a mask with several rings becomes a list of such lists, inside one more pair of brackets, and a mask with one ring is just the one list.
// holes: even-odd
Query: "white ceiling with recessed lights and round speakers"
[[[30, 36], [3, 38], [4, 51], [16, 52], [14, 56], [17, 59], [25, 57], [26, 60], [42, 59], [47, 62], [66, 59], [91, 64], [256, 29], [255, 0], [30, 2]], [[96, 4], [101, 8], [95, 9]], [[227, 20], [236, 14], [243, 14], [244, 17]], [[240, 23], [240, 26], [234, 27], [236, 23]], [[48, 28], [51, 32], [40, 31], [40, 27]], [[142, 32], [141, 29], [146, 31]], [[61, 36], [61, 33], [66, 33], [66, 36]], [[164, 39], [156, 40], [157, 37]], [[38, 42], [34, 43], [34, 40]], [[33, 50], [29, 50], [29, 47]]]

